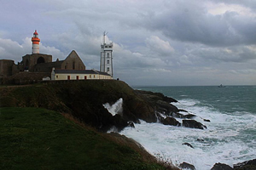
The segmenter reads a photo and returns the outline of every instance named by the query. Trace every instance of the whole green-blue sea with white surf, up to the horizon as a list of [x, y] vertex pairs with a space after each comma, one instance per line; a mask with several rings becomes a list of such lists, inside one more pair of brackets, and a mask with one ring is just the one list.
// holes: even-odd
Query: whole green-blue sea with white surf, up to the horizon
[[141, 120], [134, 128], [125, 127], [120, 132], [161, 161], [176, 166], [185, 161], [197, 170], [210, 170], [218, 162], [233, 167], [256, 158], [256, 86], [132, 88], [177, 99], [172, 105], [195, 114], [195, 120], [207, 126], [201, 130]]

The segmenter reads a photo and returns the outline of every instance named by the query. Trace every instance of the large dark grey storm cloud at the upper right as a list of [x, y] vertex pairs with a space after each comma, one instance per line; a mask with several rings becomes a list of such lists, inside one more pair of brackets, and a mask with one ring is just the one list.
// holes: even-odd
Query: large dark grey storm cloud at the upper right
[[160, 13], [144, 14], [141, 20], [138, 20], [138, 26], [161, 31], [182, 42], [218, 47], [256, 43], [255, 17], [244, 17], [234, 11], [209, 14], [200, 1], [174, 3]]

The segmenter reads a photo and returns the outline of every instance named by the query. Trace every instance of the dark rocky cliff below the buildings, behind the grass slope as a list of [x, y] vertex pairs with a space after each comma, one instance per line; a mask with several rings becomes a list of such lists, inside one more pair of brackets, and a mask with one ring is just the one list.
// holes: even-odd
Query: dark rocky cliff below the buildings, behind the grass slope
[[[125, 82], [90, 80], [1, 87], [1, 106], [43, 107], [69, 113], [99, 130], [121, 130], [131, 122], [156, 122], [159, 111], [177, 112], [175, 99], [163, 94], [135, 91]], [[103, 104], [123, 99], [122, 112], [113, 116]]]

